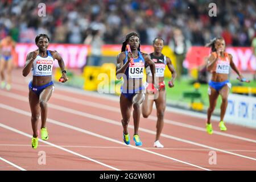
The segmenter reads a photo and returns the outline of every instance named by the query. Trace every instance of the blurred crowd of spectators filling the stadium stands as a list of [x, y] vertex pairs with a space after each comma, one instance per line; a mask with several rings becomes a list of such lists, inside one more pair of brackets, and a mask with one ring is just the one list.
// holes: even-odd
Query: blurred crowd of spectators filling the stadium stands
[[[38, 4], [46, 3], [46, 16]], [[210, 17], [209, 3], [217, 16]], [[84, 43], [100, 30], [106, 44], [120, 44], [128, 32], [141, 35], [141, 44], [162, 36], [165, 44], [180, 29], [193, 46], [223, 36], [228, 46], [250, 46], [256, 32], [255, 0], [0, 0], [0, 40], [10, 34], [16, 42], [34, 43], [39, 33], [53, 43]]]

